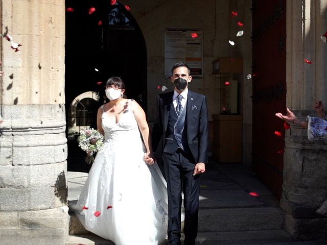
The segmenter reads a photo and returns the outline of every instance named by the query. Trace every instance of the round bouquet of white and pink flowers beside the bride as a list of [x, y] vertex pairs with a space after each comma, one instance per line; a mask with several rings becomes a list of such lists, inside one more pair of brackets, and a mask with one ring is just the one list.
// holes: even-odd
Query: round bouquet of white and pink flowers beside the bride
[[103, 148], [104, 136], [98, 130], [85, 129], [80, 132], [78, 137], [78, 145], [86, 152], [85, 162], [91, 164], [94, 161], [93, 154]]

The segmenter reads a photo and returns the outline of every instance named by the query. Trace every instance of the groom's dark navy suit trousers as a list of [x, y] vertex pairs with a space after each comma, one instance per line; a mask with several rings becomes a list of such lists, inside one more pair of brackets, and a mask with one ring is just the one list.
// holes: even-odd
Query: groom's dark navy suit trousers
[[195, 162], [191, 154], [178, 149], [174, 154], [163, 153], [168, 187], [168, 240], [180, 245], [181, 190], [184, 193], [185, 245], [194, 245], [198, 233], [200, 175], [193, 176]]

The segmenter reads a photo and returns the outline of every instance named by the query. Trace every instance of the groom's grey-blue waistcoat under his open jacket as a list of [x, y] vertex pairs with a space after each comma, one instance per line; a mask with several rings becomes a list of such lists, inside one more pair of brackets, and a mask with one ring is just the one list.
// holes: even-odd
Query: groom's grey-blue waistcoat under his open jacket
[[184, 106], [181, 114], [178, 114], [171, 104], [168, 126], [166, 131], [165, 148], [164, 152], [173, 154], [178, 148], [183, 150], [185, 153], [190, 153], [190, 148], [188, 144], [188, 137], [186, 135], [186, 105]]

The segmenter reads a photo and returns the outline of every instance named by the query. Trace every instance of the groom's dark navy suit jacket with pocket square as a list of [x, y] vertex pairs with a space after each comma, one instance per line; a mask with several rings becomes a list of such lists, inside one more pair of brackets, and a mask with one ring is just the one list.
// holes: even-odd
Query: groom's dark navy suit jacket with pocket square
[[[170, 107], [173, 105], [174, 91], [162, 93], [157, 96], [156, 119], [152, 132], [153, 150], [162, 141], [162, 149], [165, 148], [165, 139], [168, 126]], [[205, 96], [188, 91], [186, 103], [186, 135], [188, 144], [195, 163], [208, 162], [208, 114]]]

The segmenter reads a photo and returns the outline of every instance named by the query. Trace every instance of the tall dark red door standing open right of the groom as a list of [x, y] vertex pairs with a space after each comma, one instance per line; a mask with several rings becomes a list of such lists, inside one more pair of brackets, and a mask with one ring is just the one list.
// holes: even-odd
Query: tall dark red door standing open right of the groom
[[274, 114], [286, 107], [286, 0], [253, 0], [252, 15], [252, 164], [280, 198], [285, 130]]

